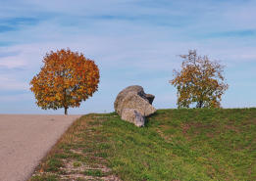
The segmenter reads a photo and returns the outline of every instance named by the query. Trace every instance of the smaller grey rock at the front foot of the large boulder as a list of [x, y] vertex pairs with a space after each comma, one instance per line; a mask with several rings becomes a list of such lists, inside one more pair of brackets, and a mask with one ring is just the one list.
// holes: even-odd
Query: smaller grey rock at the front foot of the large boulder
[[138, 127], [144, 126], [145, 124], [145, 117], [135, 109], [124, 109], [122, 119], [127, 120]]

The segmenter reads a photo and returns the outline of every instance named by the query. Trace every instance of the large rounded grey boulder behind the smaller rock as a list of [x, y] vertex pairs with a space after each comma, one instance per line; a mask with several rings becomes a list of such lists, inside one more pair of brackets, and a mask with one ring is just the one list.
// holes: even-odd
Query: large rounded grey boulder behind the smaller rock
[[[130, 113], [129, 117], [136, 117], [134, 111], [140, 113], [143, 117], [155, 113], [156, 109], [152, 106], [154, 98], [154, 95], [145, 94], [141, 86], [128, 86], [118, 94], [114, 108], [123, 119], [129, 119], [128, 121], [130, 121], [130, 118], [126, 119], [126, 117], [128, 117], [127, 115], [123, 116], [125, 110], [126, 114]], [[128, 111], [128, 109], [131, 110]], [[130, 122], [134, 123], [135, 121], [136, 120], [132, 120]]]

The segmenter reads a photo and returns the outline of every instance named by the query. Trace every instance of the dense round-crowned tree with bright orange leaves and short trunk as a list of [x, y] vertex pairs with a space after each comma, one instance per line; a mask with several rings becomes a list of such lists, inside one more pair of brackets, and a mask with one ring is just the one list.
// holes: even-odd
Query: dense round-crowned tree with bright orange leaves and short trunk
[[43, 110], [60, 108], [68, 114], [69, 108], [80, 106], [81, 101], [97, 91], [99, 69], [82, 54], [67, 50], [47, 53], [44, 66], [30, 81], [36, 104]]

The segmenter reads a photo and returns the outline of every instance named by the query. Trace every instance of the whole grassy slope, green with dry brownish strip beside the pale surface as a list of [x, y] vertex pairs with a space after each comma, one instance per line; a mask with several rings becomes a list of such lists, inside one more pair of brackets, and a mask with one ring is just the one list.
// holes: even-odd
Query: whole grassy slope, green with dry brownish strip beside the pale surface
[[256, 180], [256, 109], [159, 110], [138, 128], [116, 113], [77, 121], [39, 180]]

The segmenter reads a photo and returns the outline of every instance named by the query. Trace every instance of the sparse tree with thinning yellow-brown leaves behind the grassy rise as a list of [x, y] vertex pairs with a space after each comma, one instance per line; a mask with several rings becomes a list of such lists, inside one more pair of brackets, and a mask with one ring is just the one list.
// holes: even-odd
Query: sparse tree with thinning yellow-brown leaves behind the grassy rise
[[225, 83], [224, 67], [207, 56], [198, 56], [196, 50], [181, 55], [181, 69], [174, 69], [174, 79], [170, 80], [178, 89], [178, 107], [220, 108], [222, 95], [229, 85]]

